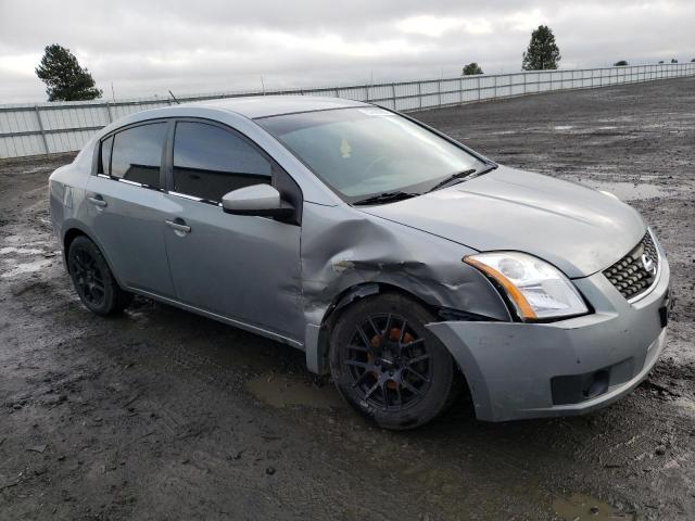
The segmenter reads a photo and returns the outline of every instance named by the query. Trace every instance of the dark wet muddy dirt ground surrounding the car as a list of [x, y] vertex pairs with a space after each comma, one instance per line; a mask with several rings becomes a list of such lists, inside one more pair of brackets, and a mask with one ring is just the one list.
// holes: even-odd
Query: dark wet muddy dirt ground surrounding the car
[[287, 346], [77, 300], [47, 178], [0, 162], [0, 519], [695, 519], [695, 78], [417, 114], [500, 163], [610, 190], [669, 252], [665, 355], [585, 417], [380, 431]]

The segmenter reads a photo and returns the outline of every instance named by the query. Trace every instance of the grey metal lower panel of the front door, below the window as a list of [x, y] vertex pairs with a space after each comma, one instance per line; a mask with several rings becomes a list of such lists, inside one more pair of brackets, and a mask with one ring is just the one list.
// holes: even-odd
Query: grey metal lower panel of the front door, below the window
[[300, 233], [295, 225], [230, 215], [213, 204], [166, 194], [166, 249], [177, 298], [255, 327], [303, 341]]

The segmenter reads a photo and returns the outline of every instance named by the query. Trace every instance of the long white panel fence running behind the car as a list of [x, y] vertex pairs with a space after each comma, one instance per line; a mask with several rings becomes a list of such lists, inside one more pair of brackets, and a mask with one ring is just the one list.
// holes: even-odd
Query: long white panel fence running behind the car
[[[264, 93], [333, 96], [408, 112], [539, 92], [589, 89], [684, 76], [695, 76], [695, 63], [534, 71], [345, 87], [225, 92], [178, 99], [184, 102]], [[175, 103], [174, 100], [149, 98], [113, 102], [0, 105], [0, 157], [79, 150], [94, 131], [109, 123], [134, 112], [167, 106], [172, 103]]]

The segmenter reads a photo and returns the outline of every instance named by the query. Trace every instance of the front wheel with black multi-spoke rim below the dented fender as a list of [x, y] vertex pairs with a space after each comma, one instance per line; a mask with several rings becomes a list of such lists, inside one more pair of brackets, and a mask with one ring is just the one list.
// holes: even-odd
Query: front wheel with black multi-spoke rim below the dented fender
[[384, 293], [350, 306], [332, 330], [330, 369], [338, 391], [383, 429], [427, 423], [460, 389], [451, 354], [425, 328], [432, 321], [419, 303]]

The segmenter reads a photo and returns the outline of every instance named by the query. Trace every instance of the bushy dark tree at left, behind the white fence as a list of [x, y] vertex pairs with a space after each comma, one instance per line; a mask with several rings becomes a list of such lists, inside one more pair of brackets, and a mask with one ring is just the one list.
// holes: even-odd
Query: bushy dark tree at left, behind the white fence
[[48, 101], [93, 100], [101, 97], [89, 71], [79, 66], [77, 58], [62, 46], [46, 47], [36, 75], [46, 84]]

